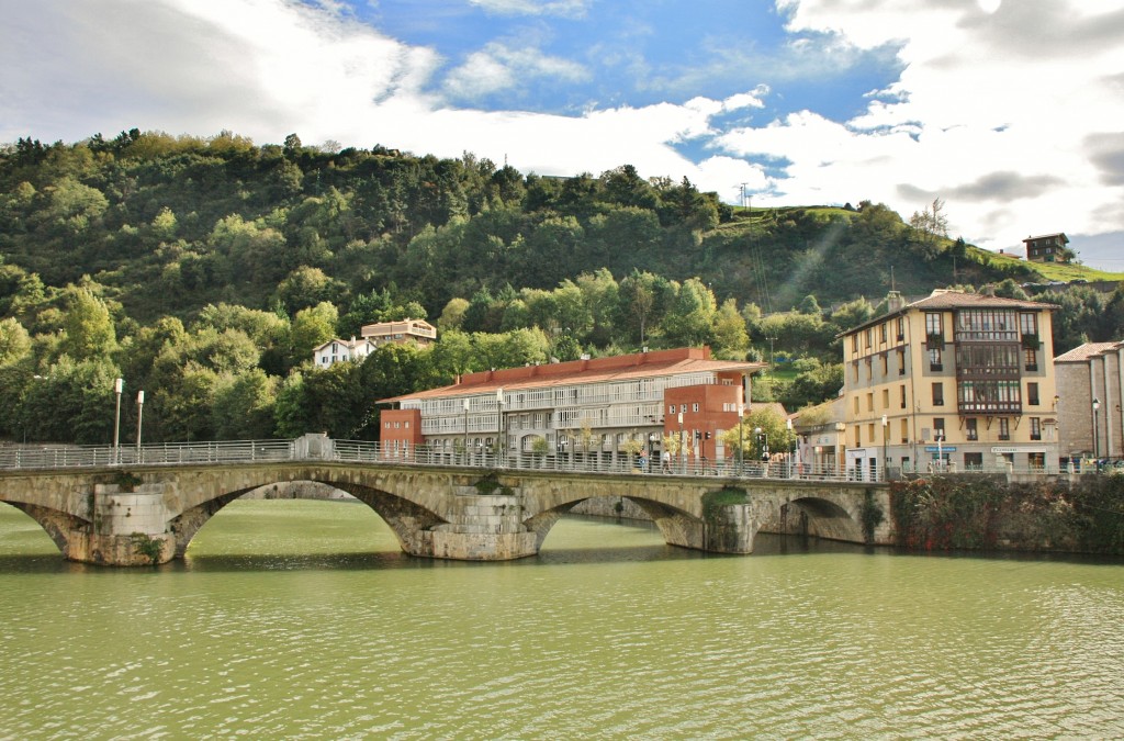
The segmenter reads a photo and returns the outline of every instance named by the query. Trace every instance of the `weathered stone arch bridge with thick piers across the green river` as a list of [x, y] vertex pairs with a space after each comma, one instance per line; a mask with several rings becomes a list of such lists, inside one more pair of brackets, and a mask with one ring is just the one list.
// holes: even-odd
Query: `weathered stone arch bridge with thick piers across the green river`
[[[353, 495], [390, 525], [404, 551], [430, 558], [533, 555], [554, 523], [591, 497], [626, 497], [652, 517], [668, 543], [704, 551], [751, 553], [759, 531], [856, 543], [887, 544], [892, 537], [888, 489], [881, 484], [333, 457], [0, 467], [0, 501], [30, 515], [67, 559], [140, 566], [182, 557], [199, 528], [244, 494], [292, 481]], [[868, 539], [861, 523], [872, 507], [883, 516]]]

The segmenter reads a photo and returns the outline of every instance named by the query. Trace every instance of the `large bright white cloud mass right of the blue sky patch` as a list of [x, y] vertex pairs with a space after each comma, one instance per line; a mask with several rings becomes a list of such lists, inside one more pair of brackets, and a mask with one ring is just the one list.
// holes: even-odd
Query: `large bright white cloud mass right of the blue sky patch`
[[869, 198], [908, 216], [941, 196], [954, 233], [990, 247], [1026, 233], [1124, 229], [1109, 207], [1124, 200], [1120, 150], [1105, 155], [1113, 139], [1097, 136], [1124, 120], [1108, 76], [1124, 69], [1118, 2], [778, 4], [792, 30], [861, 48], [901, 43], [906, 64], [853, 120], [804, 112], [719, 137], [732, 153], [791, 162], [778, 200]]

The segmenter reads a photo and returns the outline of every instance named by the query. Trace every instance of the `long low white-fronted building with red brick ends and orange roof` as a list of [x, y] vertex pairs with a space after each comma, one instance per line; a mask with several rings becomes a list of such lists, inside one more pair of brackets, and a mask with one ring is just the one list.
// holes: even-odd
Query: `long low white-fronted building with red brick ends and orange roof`
[[381, 414], [381, 441], [390, 455], [426, 445], [617, 460], [637, 444], [654, 459], [670, 436], [688, 459], [719, 461], [733, 455], [722, 433], [737, 425], [750, 377], [764, 368], [682, 347], [469, 373], [382, 399], [391, 408]]

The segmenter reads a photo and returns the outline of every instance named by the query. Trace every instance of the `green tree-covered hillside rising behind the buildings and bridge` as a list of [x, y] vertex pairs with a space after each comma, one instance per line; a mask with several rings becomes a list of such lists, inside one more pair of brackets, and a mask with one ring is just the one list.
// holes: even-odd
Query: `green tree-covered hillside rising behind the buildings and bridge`
[[[796, 408], [834, 395], [835, 334], [891, 284], [1039, 279], [910, 223], [869, 202], [735, 210], [629, 165], [559, 179], [296, 135], [20, 139], [0, 150], [0, 434], [106, 442], [120, 376], [146, 390], [146, 440], [371, 437], [374, 400], [457, 373], [703, 343], [796, 361], [761, 385]], [[1117, 332], [1118, 299], [1053, 296], [1059, 345]], [[432, 351], [309, 365], [406, 316], [437, 324]]]

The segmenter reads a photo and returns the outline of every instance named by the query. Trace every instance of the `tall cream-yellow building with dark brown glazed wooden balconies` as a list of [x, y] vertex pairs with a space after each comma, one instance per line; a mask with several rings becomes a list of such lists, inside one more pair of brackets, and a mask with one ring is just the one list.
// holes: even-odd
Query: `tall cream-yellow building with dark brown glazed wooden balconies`
[[841, 335], [854, 478], [1006, 462], [1057, 470], [1057, 307], [936, 290]]

